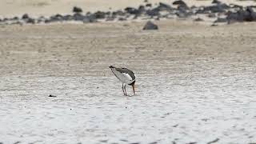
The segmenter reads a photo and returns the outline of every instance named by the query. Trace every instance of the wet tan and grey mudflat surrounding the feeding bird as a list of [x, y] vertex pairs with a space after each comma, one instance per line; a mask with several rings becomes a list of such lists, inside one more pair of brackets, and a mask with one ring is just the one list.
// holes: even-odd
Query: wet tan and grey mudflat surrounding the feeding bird
[[1, 26], [1, 142], [256, 142], [256, 24], [144, 23]]

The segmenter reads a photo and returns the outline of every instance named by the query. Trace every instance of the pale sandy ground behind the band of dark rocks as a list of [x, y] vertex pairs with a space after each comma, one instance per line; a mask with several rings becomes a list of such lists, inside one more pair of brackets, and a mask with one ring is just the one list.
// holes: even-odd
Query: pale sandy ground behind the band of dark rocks
[[[242, 6], [256, 5], [254, 0], [220, 0], [228, 4], [234, 3]], [[174, 0], [148, 0], [153, 5], [158, 2], [172, 4]], [[184, 0], [189, 6], [208, 6], [212, 0]], [[144, 0], [1, 0], [0, 18], [22, 16], [30, 14], [31, 16], [50, 16], [52, 14], [71, 14], [73, 6], [81, 7], [84, 12], [87, 11], [112, 11], [122, 10], [126, 6], [138, 7], [145, 4]]]

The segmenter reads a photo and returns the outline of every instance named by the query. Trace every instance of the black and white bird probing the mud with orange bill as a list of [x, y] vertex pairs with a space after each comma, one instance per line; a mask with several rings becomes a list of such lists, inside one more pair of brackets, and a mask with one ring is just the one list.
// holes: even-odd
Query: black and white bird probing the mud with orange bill
[[109, 66], [113, 74], [122, 82], [122, 92], [125, 96], [127, 96], [126, 93], [126, 85], [130, 85], [133, 87], [134, 95], [135, 95], [135, 74], [133, 71], [127, 69], [127, 68], [118, 68], [114, 66]]

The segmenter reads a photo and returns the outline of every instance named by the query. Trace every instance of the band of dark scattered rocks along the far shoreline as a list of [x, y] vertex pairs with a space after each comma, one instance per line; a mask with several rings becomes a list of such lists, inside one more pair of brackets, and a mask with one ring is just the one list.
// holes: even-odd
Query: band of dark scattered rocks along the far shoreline
[[178, 0], [172, 3], [159, 2], [152, 4], [144, 1], [138, 8], [126, 7], [124, 10], [86, 12], [77, 6], [73, 14], [54, 14], [49, 18], [41, 16], [32, 18], [23, 14], [22, 18], [2, 18], [0, 25], [14, 24], [48, 24], [53, 22], [123, 22], [129, 20], [162, 20], [162, 19], [192, 19], [195, 22], [210, 22], [212, 26], [231, 24], [234, 22], [256, 22], [256, 6], [239, 6], [213, 0], [210, 6], [187, 6], [186, 2]]

